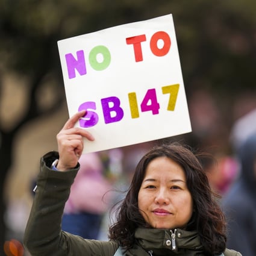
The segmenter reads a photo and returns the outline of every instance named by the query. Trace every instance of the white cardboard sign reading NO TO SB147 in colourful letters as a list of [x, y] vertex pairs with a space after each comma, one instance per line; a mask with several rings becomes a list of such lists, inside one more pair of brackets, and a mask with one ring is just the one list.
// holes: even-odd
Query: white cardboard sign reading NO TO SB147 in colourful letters
[[58, 41], [69, 116], [84, 152], [192, 131], [172, 14]]

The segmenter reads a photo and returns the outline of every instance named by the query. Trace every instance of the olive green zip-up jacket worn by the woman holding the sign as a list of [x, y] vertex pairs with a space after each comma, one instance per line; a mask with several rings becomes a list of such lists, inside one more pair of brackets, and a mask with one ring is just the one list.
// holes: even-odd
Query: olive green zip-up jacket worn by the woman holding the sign
[[[51, 170], [57, 152], [46, 154], [40, 161], [37, 189], [24, 235], [24, 245], [31, 256], [113, 256], [119, 248], [117, 242], [83, 239], [61, 231], [64, 204], [79, 165], [67, 172]], [[83, 195], [86, 199], [86, 195]], [[196, 232], [177, 229], [138, 228], [136, 245], [124, 252], [127, 256], [204, 255]], [[226, 249], [225, 256], [239, 256], [239, 252]]]

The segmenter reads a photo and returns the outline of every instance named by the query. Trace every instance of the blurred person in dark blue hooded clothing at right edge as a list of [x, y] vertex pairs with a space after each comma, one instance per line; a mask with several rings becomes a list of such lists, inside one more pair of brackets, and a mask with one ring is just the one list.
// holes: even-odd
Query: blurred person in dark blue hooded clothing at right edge
[[256, 133], [237, 146], [240, 176], [223, 198], [228, 222], [227, 246], [256, 255]]

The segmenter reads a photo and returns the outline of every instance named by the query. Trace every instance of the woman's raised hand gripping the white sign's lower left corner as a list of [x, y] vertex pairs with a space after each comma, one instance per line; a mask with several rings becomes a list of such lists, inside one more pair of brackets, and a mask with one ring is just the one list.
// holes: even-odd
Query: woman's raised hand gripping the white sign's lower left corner
[[56, 166], [58, 170], [69, 170], [76, 166], [84, 148], [83, 137], [91, 141], [94, 140], [92, 134], [88, 131], [74, 128], [75, 123], [85, 113], [86, 111], [83, 110], [74, 114], [57, 134], [58, 153], [60, 154]]

